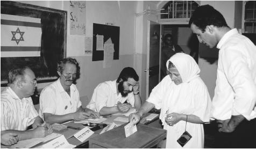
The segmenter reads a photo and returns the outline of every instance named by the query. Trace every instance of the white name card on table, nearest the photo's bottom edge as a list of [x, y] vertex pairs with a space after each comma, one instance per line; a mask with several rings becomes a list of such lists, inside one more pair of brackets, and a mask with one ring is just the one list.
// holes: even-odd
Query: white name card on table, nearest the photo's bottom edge
[[75, 147], [75, 145], [69, 144], [67, 139], [63, 135], [61, 135], [60, 137], [42, 145], [40, 148], [73, 148], [73, 147]]

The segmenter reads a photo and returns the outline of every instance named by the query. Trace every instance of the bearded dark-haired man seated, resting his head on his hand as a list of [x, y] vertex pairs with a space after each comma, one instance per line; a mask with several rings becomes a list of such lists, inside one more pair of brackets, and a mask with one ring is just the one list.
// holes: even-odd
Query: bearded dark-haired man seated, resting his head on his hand
[[99, 84], [87, 108], [99, 111], [100, 115], [125, 113], [131, 107], [139, 109], [139, 76], [133, 68], [124, 68], [117, 80]]

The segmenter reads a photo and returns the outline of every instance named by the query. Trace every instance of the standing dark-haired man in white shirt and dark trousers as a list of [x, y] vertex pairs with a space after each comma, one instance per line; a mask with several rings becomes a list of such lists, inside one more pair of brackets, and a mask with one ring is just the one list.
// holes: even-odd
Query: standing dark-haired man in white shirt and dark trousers
[[256, 47], [227, 26], [210, 5], [198, 7], [189, 26], [199, 42], [219, 49], [212, 117], [217, 120], [221, 148], [256, 147]]

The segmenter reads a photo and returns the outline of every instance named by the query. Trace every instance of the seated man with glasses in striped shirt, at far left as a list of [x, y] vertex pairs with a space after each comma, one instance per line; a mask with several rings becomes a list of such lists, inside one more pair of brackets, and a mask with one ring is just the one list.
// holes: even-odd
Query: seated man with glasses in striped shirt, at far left
[[[52, 126], [44, 123], [34, 109], [31, 95], [36, 86], [37, 80], [29, 67], [9, 71], [8, 87], [1, 92], [1, 144], [10, 146], [18, 140], [52, 133]], [[33, 130], [27, 130], [30, 125]]]

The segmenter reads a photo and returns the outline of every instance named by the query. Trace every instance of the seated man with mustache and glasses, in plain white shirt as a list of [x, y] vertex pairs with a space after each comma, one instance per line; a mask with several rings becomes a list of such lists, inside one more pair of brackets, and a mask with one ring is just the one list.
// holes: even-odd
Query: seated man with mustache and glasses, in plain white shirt
[[73, 84], [79, 71], [76, 59], [65, 58], [58, 63], [57, 72], [60, 78], [46, 86], [40, 94], [39, 115], [46, 122], [53, 124], [99, 118], [95, 111], [82, 108], [79, 91]]

